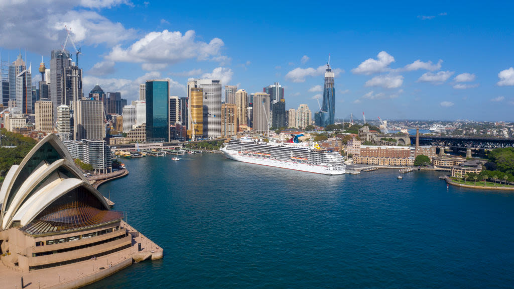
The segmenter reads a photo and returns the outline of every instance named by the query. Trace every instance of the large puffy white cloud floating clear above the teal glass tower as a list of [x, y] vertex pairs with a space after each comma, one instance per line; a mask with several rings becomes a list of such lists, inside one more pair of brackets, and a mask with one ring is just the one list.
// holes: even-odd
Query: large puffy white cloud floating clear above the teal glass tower
[[[179, 31], [163, 30], [150, 32], [127, 49], [117, 45], [105, 58], [111, 61], [135, 62], [146, 64], [169, 65], [186, 59], [227, 60], [223, 58], [221, 48], [224, 43], [213, 38], [209, 43], [196, 41], [193, 30], [182, 35]], [[220, 58], [222, 57], [222, 58]]]

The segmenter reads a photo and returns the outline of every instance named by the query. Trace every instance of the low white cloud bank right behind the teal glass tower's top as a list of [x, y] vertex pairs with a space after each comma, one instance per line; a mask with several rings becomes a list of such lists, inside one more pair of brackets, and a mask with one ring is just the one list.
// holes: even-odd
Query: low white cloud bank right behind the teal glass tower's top
[[[102, 87], [104, 92], [120, 92], [121, 96], [126, 99], [139, 98], [139, 84], [151, 79], [162, 79], [158, 71], [152, 71], [138, 77], [134, 80], [123, 78], [99, 78], [86, 76], [83, 78], [84, 93], [89, 92], [96, 84]], [[171, 79], [164, 78], [170, 83], [170, 94], [185, 96], [186, 86]]]

